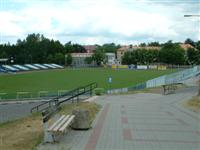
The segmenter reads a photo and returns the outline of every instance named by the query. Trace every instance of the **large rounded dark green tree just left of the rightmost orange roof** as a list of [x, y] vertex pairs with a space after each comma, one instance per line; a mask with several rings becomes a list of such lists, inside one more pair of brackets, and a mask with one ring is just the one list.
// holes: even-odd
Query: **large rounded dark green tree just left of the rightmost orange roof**
[[161, 48], [160, 60], [167, 64], [182, 65], [185, 62], [184, 50], [179, 46], [179, 44], [173, 44], [172, 42], [167, 42]]

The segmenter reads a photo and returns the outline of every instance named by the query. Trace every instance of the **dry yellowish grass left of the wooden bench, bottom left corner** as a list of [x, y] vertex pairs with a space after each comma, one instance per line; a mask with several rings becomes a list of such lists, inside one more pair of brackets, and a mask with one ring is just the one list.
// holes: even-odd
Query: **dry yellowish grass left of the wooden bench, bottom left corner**
[[34, 150], [43, 138], [40, 115], [3, 123], [0, 125], [2, 150]]

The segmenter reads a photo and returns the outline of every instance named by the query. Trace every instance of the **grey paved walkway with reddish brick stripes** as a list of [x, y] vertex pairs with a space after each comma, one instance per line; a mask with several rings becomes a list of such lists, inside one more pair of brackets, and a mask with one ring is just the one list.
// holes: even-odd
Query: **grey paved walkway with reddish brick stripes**
[[140, 93], [103, 96], [103, 107], [89, 131], [70, 131], [60, 143], [39, 150], [199, 150], [200, 115], [181, 103], [196, 94], [188, 88], [172, 95]]

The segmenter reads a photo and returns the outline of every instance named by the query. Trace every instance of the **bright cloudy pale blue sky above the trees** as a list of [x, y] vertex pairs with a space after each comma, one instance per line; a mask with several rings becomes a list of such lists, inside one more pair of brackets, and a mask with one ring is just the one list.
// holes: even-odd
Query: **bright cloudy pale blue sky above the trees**
[[200, 0], [0, 0], [0, 44], [40, 33], [61, 43], [200, 40]]

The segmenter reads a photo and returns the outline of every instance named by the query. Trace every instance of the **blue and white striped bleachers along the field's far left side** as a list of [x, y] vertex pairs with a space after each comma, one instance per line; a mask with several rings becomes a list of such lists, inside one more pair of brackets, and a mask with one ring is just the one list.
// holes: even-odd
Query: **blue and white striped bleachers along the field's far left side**
[[0, 73], [21, 72], [32, 70], [62, 69], [58, 64], [25, 64], [25, 65], [0, 65]]

